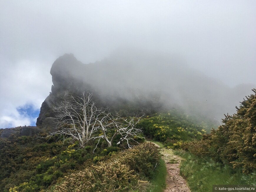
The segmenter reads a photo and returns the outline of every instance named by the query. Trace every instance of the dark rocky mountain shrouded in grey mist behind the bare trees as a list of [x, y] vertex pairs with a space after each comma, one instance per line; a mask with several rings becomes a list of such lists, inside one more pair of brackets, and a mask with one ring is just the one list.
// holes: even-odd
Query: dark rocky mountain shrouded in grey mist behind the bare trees
[[64, 54], [53, 63], [50, 73], [51, 94], [42, 104], [38, 126], [52, 121], [51, 107], [67, 91], [94, 93], [99, 106], [133, 111], [131, 115], [177, 107], [215, 121], [224, 113], [235, 113], [235, 106], [255, 87], [242, 84], [231, 88], [190, 68], [175, 55], [133, 49], [120, 49], [90, 64]]

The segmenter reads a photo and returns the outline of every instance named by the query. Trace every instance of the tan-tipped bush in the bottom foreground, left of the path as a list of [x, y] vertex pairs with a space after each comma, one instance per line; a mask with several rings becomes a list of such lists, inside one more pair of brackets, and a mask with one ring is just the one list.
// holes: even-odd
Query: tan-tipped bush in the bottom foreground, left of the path
[[137, 182], [138, 178], [129, 166], [117, 161], [107, 161], [65, 176], [65, 181], [56, 186], [55, 192], [121, 192], [129, 191]]

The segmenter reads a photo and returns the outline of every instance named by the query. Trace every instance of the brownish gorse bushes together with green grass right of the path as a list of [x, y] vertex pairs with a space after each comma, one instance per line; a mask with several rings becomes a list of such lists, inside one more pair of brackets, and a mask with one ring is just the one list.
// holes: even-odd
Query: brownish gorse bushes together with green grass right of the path
[[185, 160], [180, 173], [192, 191], [211, 191], [216, 184], [256, 185], [256, 89], [226, 115], [223, 125], [199, 141], [186, 142], [176, 151]]

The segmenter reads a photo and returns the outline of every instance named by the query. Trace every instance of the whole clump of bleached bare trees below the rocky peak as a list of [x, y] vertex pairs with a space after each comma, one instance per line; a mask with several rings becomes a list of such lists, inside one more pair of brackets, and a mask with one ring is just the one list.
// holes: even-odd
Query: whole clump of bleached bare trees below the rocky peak
[[129, 141], [134, 141], [134, 136], [140, 137], [142, 132], [140, 128], [135, 128], [141, 117], [122, 118], [118, 113], [112, 115], [108, 108], [97, 108], [90, 93], [83, 93], [81, 97], [69, 94], [54, 107], [54, 111], [59, 120], [58, 130], [46, 137], [61, 135], [64, 139], [71, 138], [72, 142], [79, 141], [80, 147], [91, 139], [99, 143], [101, 138], [112, 146], [117, 135], [120, 136], [117, 145], [126, 141], [131, 147]]

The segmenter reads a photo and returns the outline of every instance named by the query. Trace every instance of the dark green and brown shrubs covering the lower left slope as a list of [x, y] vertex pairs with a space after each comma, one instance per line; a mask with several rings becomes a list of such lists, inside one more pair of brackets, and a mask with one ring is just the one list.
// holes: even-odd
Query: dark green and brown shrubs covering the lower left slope
[[9, 191], [10, 188], [40, 191], [56, 183], [68, 171], [85, 168], [95, 156], [91, 146], [74, 150], [56, 138], [22, 136], [9, 139], [0, 138], [0, 191]]

